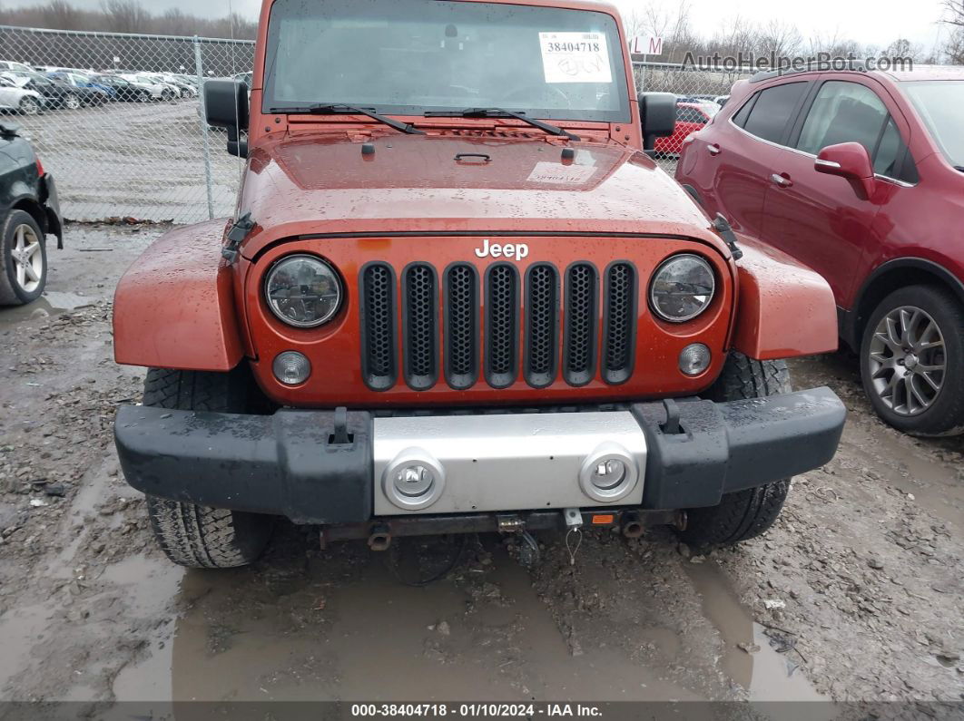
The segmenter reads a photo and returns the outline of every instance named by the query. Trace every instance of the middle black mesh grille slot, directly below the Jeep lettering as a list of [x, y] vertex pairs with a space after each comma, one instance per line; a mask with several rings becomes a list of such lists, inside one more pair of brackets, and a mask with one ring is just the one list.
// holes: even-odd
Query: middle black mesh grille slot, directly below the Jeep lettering
[[498, 264], [486, 275], [486, 380], [505, 388], [519, 368], [519, 272]]

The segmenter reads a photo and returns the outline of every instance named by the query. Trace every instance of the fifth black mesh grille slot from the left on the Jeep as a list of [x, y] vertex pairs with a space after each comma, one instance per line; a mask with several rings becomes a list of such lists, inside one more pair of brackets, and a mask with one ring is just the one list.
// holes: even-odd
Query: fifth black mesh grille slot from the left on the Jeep
[[535, 388], [555, 379], [559, 346], [559, 278], [555, 268], [529, 268], [525, 283], [525, 380]]

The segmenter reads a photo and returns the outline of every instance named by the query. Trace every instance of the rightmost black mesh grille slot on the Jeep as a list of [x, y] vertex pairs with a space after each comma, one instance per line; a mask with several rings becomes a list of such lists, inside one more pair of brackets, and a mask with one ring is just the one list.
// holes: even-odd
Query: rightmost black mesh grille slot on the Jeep
[[636, 271], [629, 263], [613, 263], [605, 274], [603, 379], [625, 383], [632, 375], [636, 340]]

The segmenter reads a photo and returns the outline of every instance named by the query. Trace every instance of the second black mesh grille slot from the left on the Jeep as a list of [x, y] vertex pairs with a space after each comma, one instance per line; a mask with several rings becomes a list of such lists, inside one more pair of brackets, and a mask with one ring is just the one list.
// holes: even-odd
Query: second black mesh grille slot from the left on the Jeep
[[418, 263], [405, 270], [405, 382], [416, 391], [439, 378], [439, 294], [435, 270]]

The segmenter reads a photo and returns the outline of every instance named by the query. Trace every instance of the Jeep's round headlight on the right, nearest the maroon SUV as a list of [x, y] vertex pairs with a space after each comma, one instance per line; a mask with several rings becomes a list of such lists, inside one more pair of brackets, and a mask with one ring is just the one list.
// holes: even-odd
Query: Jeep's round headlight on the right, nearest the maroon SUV
[[659, 318], [690, 321], [710, 306], [716, 280], [710, 264], [698, 255], [674, 255], [653, 275], [650, 304]]

